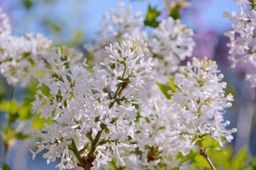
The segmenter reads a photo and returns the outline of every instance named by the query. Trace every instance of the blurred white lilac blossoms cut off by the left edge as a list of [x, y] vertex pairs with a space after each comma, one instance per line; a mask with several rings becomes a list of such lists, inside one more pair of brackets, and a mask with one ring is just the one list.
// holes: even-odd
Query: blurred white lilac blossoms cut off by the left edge
[[0, 71], [8, 84], [27, 85], [44, 58], [51, 41], [42, 34], [27, 33], [26, 36], [11, 35], [11, 23], [0, 9]]

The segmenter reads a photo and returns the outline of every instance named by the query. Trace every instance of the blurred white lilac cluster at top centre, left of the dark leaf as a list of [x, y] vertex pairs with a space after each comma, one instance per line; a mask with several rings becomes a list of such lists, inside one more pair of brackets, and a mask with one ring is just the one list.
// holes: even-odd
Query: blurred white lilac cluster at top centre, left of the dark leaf
[[108, 58], [103, 49], [108, 44], [114, 42], [121, 43], [129, 35], [140, 38], [140, 28], [143, 27], [144, 20], [140, 12], [131, 14], [131, 6], [127, 10], [124, 3], [118, 4], [118, 12], [111, 9], [103, 16], [101, 28], [97, 31], [98, 38], [93, 37], [94, 44], [84, 44], [84, 48], [93, 55], [95, 63]]

